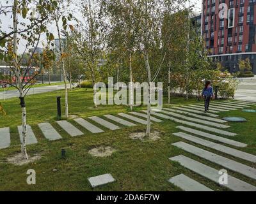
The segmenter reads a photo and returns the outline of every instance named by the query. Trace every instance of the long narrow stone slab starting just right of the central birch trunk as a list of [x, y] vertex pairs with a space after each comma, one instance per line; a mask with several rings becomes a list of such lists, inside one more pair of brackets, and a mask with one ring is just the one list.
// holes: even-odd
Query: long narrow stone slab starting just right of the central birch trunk
[[221, 135], [227, 135], [227, 136], [236, 136], [237, 135], [236, 133], [230, 133], [228, 131], [223, 131], [222, 129], [211, 128], [209, 126], [205, 126], [205, 125], [203, 126], [203, 125], [200, 125], [200, 124], [196, 124], [194, 122], [188, 122], [188, 121], [185, 121], [185, 120], [175, 119], [173, 117], [170, 117], [168, 115], [163, 115], [161, 113], [152, 112], [152, 115], [156, 115], [157, 117], [162, 117], [163, 119], [173, 120], [174, 122], [179, 122], [181, 124], [186, 124], [188, 126], [193, 126], [193, 127], [196, 127], [196, 128], [204, 129], [206, 131], [219, 133]]

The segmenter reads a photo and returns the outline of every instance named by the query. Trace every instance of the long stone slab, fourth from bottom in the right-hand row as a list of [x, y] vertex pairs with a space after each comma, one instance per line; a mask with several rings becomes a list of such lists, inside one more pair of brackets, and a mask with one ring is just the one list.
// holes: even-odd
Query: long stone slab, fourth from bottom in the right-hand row
[[180, 138], [184, 138], [184, 139], [189, 140], [191, 142], [198, 143], [198, 144], [203, 145], [205, 147], [210, 147], [210, 148], [218, 150], [220, 152], [224, 152], [226, 154], [230, 154], [232, 156], [239, 157], [239, 158], [244, 159], [246, 161], [256, 163], [256, 156], [254, 156], [253, 154], [248, 154], [246, 152], [242, 152], [240, 150], [236, 150], [236, 149], [233, 149], [233, 148], [230, 148], [230, 147], [226, 147], [226, 146], [220, 145], [218, 143], [214, 143], [214, 142], [211, 142], [211, 141], [208, 141], [208, 140], [204, 140], [202, 138], [198, 138], [198, 137], [193, 136], [193, 135], [188, 135], [186, 133], [181, 133], [181, 132], [180, 133], [173, 133], [173, 135], [179, 136]]

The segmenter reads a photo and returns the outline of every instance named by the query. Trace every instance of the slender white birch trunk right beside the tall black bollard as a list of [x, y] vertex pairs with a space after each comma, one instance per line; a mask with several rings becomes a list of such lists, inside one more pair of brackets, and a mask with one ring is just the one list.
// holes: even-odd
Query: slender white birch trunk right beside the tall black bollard
[[64, 86], [65, 86], [65, 117], [68, 117], [68, 89], [67, 89], [67, 75], [66, 75], [66, 70], [65, 70], [65, 64], [64, 64], [64, 59], [63, 59], [63, 49], [61, 45], [61, 36], [60, 36], [60, 28], [58, 25], [58, 20], [55, 19], [56, 21], [56, 27], [58, 31], [58, 37], [60, 40], [60, 54], [61, 54], [61, 67], [63, 71], [63, 79], [64, 79]]

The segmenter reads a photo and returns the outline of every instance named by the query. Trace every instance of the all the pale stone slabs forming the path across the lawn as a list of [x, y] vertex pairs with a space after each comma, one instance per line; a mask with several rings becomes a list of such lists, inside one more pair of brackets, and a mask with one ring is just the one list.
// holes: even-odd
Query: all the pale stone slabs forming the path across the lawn
[[[222, 166], [222, 168], [225, 168], [228, 171], [231, 170], [248, 177], [249, 180], [256, 180], [256, 169], [252, 167], [256, 163], [256, 156], [241, 150], [246, 147], [247, 144], [233, 140], [232, 137], [236, 136], [237, 133], [230, 132], [228, 130], [229, 126], [225, 124], [226, 121], [218, 118], [217, 115], [221, 112], [220, 110], [231, 111], [229, 110], [231, 107], [232, 110], [241, 110], [241, 108], [250, 108], [250, 106], [256, 105], [256, 103], [232, 100], [216, 101], [214, 104], [216, 108], [211, 108], [212, 110], [216, 109], [214, 110], [214, 113], [204, 113], [204, 107], [202, 105], [163, 108], [161, 112], [152, 112], [152, 115], [154, 116], [152, 117], [152, 123], [163, 122], [163, 120], [177, 122], [179, 126], [176, 128], [179, 131], [173, 133], [173, 136], [180, 138], [182, 141], [173, 143], [173, 146], [199, 157], [199, 161], [205, 159], [211, 163]], [[77, 123], [84, 129], [77, 128], [79, 126], [74, 126], [72, 123]], [[72, 123], [67, 122], [67, 120], [56, 122], [56, 124], [70, 136], [86, 135], [85, 129], [97, 135], [104, 132], [104, 129], [109, 129], [108, 131], [116, 131], [138, 124], [145, 125], [147, 124], [147, 112], [118, 113], [117, 115], [102, 115], [101, 117], [89, 117], [88, 119], [77, 118], [74, 119], [74, 122]], [[62, 139], [60, 133], [58, 133], [51, 124], [44, 122], [38, 124], [38, 127], [41, 129], [47, 140]], [[18, 129], [21, 138], [21, 127], [19, 126]], [[12, 145], [11, 139], [10, 128], [0, 128], [0, 149], [10, 147], [10, 145]], [[28, 145], [33, 145], [37, 142], [33, 129], [28, 125]], [[237, 149], [237, 147], [239, 149]], [[204, 148], [207, 148], [207, 150]], [[214, 150], [214, 153], [211, 152], [211, 150]], [[220, 154], [215, 152], [220, 152]], [[239, 158], [239, 161], [241, 162], [223, 156], [225, 154], [232, 158]], [[220, 174], [219, 170], [215, 168], [195, 161], [187, 156], [183, 156], [182, 154], [171, 157], [170, 161], [178, 162], [180, 165], [184, 166], [184, 168], [188, 168], [196, 174], [219, 184], [218, 180]], [[246, 161], [247, 164], [244, 164], [243, 161]], [[104, 176], [103, 179], [101, 178], [102, 176]], [[101, 179], [98, 183], [107, 184], [115, 180], [108, 175], [108, 179], [103, 182], [102, 180], [104, 180], [105, 177], [106, 175], [100, 175]], [[95, 179], [99, 180], [98, 177], [94, 178], [94, 180]], [[93, 183], [93, 178], [90, 178], [89, 180], [92, 186], [97, 186], [97, 182]], [[203, 184], [200, 184], [200, 182], [193, 180], [184, 174], [176, 175], [175, 177], [170, 178], [168, 182], [180, 187], [180, 189], [184, 191], [212, 191], [210, 187], [204, 186]], [[256, 187], [248, 183], [248, 180], [245, 182], [244, 180], [237, 179], [231, 175], [228, 175], [228, 184], [219, 185], [225, 186], [227, 189], [233, 191], [256, 191]]]

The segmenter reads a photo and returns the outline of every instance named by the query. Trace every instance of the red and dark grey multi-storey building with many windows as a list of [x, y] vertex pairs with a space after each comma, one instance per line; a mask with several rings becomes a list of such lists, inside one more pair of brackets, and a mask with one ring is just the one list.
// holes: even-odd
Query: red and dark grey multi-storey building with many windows
[[230, 73], [249, 58], [256, 74], [256, 0], [202, 0], [202, 15], [195, 20], [209, 57]]

